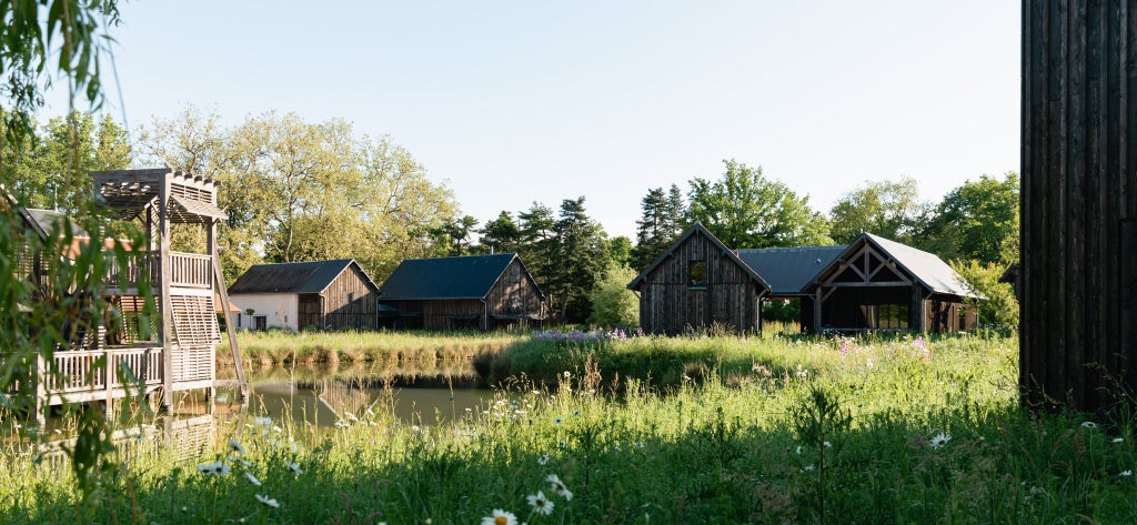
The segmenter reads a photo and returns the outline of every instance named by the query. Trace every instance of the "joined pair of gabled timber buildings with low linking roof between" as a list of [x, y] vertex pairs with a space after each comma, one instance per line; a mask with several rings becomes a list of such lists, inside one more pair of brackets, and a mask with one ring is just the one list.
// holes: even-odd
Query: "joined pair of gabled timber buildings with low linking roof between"
[[731, 250], [691, 226], [629, 289], [652, 333], [761, 330], [761, 301], [796, 300], [803, 332], [971, 330], [980, 299], [932, 253], [862, 234], [848, 245]]

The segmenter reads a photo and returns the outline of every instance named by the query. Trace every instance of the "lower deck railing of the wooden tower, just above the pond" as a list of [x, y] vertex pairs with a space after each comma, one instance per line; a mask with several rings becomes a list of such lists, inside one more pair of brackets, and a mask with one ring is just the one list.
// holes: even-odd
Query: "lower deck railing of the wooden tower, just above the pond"
[[[105, 359], [107, 366], [94, 369]], [[161, 348], [114, 348], [56, 352], [55, 367], [44, 370], [43, 390], [49, 394], [117, 390], [161, 384]], [[125, 376], [130, 370], [133, 378]]]

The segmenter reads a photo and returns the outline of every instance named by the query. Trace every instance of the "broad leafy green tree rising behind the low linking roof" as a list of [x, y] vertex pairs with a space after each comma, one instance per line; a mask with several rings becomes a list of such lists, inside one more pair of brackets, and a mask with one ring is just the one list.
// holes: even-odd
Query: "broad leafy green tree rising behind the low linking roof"
[[731, 248], [832, 244], [825, 218], [810, 209], [786, 184], [770, 181], [762, 168], [724, 160], [727, 173], [709, 182], [690, 181], [687, 220], [702, 222]]

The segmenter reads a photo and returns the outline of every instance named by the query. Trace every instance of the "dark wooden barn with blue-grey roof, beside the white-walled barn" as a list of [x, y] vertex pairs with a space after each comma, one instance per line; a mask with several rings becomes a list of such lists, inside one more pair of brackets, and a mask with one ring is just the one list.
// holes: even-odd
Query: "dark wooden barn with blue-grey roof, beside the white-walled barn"
[[384, 326], [493, 330], [546, 318], [545, 294], [516, 253], [406, 259], [383, 282]]

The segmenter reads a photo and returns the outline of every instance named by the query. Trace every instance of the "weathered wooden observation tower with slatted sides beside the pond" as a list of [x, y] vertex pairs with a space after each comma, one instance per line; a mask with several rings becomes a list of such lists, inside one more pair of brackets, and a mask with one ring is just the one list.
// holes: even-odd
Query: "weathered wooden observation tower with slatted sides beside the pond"
[[[215, 314], [215, 294], [222, 310], [229, 310], [229, 293], [217, 256], [217, 223], [227, 214], [217, 207], [218, 183], [208, 177], [180, 170], [126, 169], [92, 172], [94, 199], [114, 218], [140, 220], [146, 245], [134, 247], [126, 267], [113, 265], [102, 294], [119, 312], [116, 326], [106, 326], [107, 349], [148, 348], [151, 364], [139, 370], [148, 389], [161, 391], [161, 407], [173, 407], [173, 393], [205, 389], [213, 397], [217, 383], [214, 349], [221, 343]], [[205, 228], [206, 253], [171, 249], [171, 226], [196, 225]], [[139, 341], [142, 333], [144, 290], [149, 285], [160, 318], [153, 335]], [[233, 323], [225, 323], [230, 349], [236, 366], [241, 397], [247, 383], [236, 345]], [[102, 342], [102, 341], [100, 341]], [[160, 351], [160, 358], [153, 351]], [[133, 366], [131, 368], [134, 368]]]

